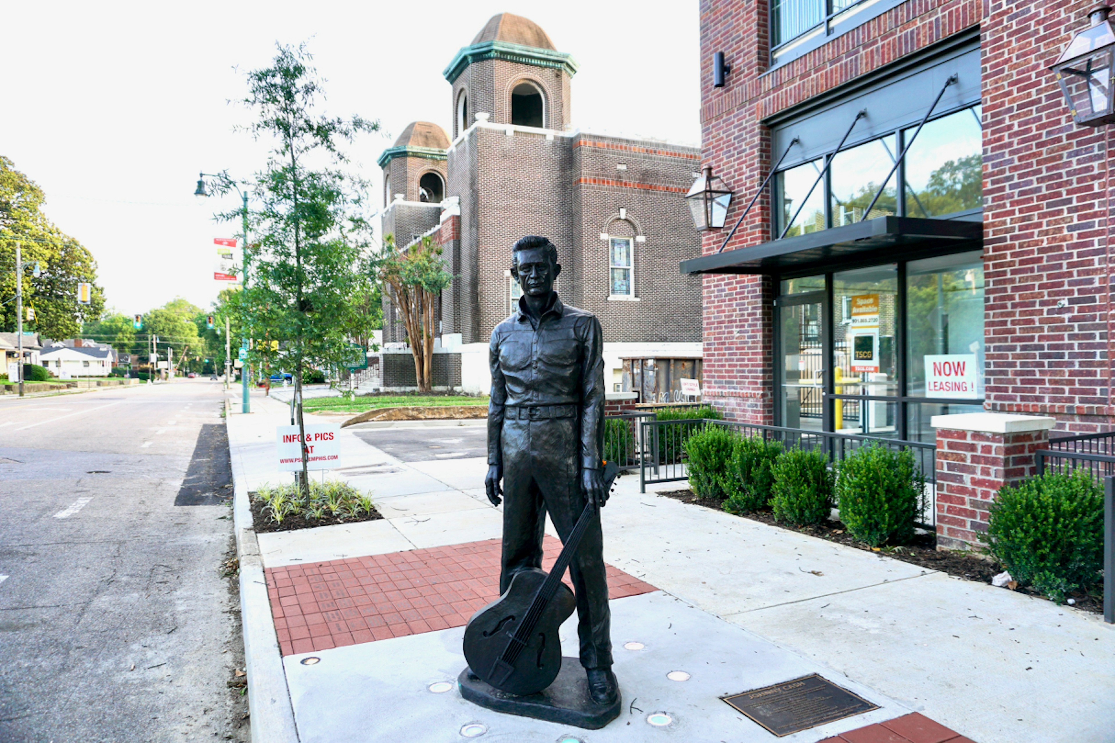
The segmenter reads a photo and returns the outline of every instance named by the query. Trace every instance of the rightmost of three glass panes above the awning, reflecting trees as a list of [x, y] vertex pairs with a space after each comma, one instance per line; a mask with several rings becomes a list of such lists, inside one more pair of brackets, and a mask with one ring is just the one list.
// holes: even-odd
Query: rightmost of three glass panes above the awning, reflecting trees
[[[905, 156], [906, 216], [940, 216], [982, 204], [981, 107], [922, 127]], [[903, 136], [911, 137], [913, 128]]]

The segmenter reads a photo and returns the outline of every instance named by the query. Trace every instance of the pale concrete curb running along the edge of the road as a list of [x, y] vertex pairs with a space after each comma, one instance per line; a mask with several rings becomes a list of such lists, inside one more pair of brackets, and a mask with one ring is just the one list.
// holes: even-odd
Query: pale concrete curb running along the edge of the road
[[[227, 427], [231, 403], [224, 401]], [[291, 706], [287, 672], [279, 653], [271, 616], [271, 599], [263, 577], [263, 558], [252, 529], [252, 511], [248, 503], [248, 483], [243, 467], [232, 456], [233, 531], [236, 535], [236, 559], [240, 560], [240, 618], [244, 636], [244, 670], [248, 674], [248, 708], [251, 713], [252, 743], [299, 743]]]

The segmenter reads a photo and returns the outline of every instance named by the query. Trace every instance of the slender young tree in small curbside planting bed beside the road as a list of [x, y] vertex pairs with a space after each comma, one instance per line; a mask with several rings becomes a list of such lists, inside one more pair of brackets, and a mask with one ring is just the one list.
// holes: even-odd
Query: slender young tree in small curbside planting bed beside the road
[[[248, 74], [243, 103], [256, 119], [245, 129], [271, 149], [250, 184], [252, 241], [245, 251], [246, 288], [237, 298], [245, 309], [245, 336], [280, 341], [279, 358], [271, 348], [251, 348], [249, 359], [293, 374], [303, 441], [302, 377], [311, 367], [336, 368], [351, 355], [352, 313], [369, 290], [367, 184], [349, 173], [342, 147], [379, 128], [359, 116], [321, 114], [323, 81], [310, 61], [304, 46], [279, 45], [270, 67]], [[214, 185], [227, 191], [232, 182], [222, 175]], [[236, 223], [243, 211], [219, 216]], [[303, 444], [299, 483], [308, 496], [307, 453]]]

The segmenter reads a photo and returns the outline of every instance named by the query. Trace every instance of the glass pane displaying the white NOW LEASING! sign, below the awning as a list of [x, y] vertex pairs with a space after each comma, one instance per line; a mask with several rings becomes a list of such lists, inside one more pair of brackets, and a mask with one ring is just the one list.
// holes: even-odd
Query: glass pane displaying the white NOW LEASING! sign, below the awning
[[958, 253], [906, 263], [906, 393], [983, 397], [983, 259]]

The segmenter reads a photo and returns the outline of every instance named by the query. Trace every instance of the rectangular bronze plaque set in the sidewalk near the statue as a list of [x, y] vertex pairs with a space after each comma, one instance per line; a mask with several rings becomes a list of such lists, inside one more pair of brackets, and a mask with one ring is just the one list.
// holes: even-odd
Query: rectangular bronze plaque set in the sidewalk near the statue
[[816, 674], [720, 698], [778, 737], [879, 708]]

